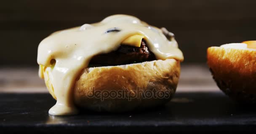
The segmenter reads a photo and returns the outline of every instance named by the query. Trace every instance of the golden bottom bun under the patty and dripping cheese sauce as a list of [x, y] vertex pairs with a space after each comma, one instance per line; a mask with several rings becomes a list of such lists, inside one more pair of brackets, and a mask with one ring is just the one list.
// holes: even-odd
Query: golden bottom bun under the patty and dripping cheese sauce
[[163, 105], [175, 93], [179, 75], [180, 62], [175, 59], [85, 68], [73, 87], [74, 102], [79, 108], [109, 112]]

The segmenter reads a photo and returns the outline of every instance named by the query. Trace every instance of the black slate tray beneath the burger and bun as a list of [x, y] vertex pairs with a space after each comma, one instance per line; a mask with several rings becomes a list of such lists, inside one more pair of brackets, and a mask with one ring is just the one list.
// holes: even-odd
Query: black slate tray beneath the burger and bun
[[242, 132], [256, 130], [255, 105], [241, 105], [221, 92], [176, 93], [165, 106], [126, 113], [86, 111], [51, 116], [49, 94], [0, 94], [3, 132]]

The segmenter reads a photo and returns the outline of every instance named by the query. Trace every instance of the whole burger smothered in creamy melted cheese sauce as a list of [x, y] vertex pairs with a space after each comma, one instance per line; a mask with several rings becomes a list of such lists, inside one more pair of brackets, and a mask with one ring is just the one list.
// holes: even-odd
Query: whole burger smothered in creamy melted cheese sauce
[[163, 105], [176, 91], [181, 61], [173, 33], [130, 15], [52, 33], [37, 55], [39, 76], [57, 100], [51, 115]]

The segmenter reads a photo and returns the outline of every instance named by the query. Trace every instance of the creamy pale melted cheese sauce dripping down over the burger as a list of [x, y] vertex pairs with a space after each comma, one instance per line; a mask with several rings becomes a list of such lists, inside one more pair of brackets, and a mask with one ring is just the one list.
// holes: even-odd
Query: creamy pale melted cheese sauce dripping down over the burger
[[[137, 37], [134, 37], [136, 35]], [[135, 38], [135, 39], [129, 39]], [[49, 110], [51, 115], [71, 115], [78, 111], [73, 103], [72, 86], [83, 68], [97, 54], [116, 50], [126, 39], [128, 44], [139, 46], [142, 37], [157, 59], [183, 60], [182, 52], [174, 38], [168, 40], [160, 29], [149, 26], [129, 15], [112, 15], [99, 23], [57, 31], [38, 46], [37, 62], [41, 71], [46, 70], [54, 88], [56, 104]], [[138, 39], [140, 41], [138, 41]], [[131, 45], [131, 44], [130, 44]], [[51, 63], [54, 60], [55, 65]]]

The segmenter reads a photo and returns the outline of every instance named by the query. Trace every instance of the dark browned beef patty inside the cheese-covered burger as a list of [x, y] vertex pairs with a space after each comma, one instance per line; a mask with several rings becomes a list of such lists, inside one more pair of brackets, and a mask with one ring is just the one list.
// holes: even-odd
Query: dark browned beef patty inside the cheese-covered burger
[[148, 49], [146, 42], [142, 40], [140, 47], [121, 44], [115, 51], [107, 54], [98, 54], [91, 59], [89, 65], [116, 66], [152, 61], [155, 59], [155, 55]]

